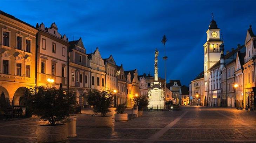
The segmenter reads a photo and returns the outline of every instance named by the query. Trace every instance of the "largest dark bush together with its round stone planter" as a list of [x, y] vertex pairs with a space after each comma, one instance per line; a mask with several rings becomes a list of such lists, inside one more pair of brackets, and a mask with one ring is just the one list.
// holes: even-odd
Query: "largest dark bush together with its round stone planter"
[[66, 89], [39, 86], [26, 89], [25, 99], [29, 111], [48, 121], [37, 128], [39, 142], [61, 142], [67, 139], [67, 125], [63, 120], [74, 113], [76, 97]]

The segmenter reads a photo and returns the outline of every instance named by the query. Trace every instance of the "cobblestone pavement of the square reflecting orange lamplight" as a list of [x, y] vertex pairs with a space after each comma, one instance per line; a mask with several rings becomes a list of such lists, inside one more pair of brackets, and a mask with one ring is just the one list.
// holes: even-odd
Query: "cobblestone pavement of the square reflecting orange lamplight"
[[[186, 106], [180, 111], [144, 112], [123, 123], [113, 120], [112, 128], [96, 128], [92, 113], [75, 115], [78, 136], [67, 143], [256, 143], [256, 112]], [[41, 124], [45, 122], [38, 118], [0, 121], [0, 143], [36, 143], [36, 127]]]

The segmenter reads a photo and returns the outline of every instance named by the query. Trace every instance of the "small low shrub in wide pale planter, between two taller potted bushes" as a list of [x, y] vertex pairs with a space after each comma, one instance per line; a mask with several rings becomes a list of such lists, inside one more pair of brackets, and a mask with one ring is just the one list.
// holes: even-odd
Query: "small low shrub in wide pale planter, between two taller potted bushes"
[[119, 104], [116, 107], [116, 114], [115, 114], [115, 121], [116, 122], [126, 122], [128, 120], [128, 114], [127, 113], [123, 113], [125, 110], [125, 103], [123, 104]]

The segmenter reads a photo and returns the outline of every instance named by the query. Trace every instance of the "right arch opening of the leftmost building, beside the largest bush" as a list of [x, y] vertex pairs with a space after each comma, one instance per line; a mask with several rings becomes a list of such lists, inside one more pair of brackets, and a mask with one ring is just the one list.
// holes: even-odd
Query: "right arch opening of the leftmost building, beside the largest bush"
[[18, 88], [13, 96], [12, 105], [14, 106], [24, 106], [25, 100], [24, 100], [24, 93], [26, 91], [26, 87], [20, 87]]

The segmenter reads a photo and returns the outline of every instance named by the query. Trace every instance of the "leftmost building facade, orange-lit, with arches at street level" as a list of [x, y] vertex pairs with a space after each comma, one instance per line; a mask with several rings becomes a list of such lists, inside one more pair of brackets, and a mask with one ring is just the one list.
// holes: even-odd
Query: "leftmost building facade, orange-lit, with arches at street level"
[[24, 105], [24, 89], [35, 85], [38, 30], [0, 11], [0, 94], [9, 105]]

